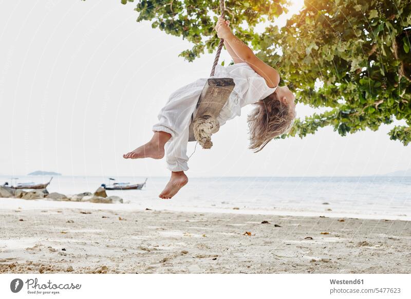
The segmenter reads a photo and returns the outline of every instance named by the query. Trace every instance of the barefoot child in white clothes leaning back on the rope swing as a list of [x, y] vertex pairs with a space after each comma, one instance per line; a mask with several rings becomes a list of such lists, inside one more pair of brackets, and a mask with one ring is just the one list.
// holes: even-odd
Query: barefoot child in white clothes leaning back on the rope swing
[[[256, 108], [248, 117], [250, 148], [259, 152], [271, 139], [291, 128], [295, 118], [295, 97], [287, 86], [278, 86], [278, 72], [259, 60], [246, 44], [236, 38], [229, 25], [229, 21], [220, 17], [215, 26], [218, 38], [224, 40], [234, 64], [227, 67], [217, 65], [214, 78], [233, 78], [235, 83], [217, 120], [223, 125], [239, 116], [245, 105], [255, 104]], [[125, 159], [161, 159], [165, 147], [171, 178], [160, 198], [172, 198], [188, 182], [184, 171], [189, 169], [186, 154], [189, 126], [206, 81], [199, 79], [175, 91], [160, 110], [152, 139], [123, 155]]]

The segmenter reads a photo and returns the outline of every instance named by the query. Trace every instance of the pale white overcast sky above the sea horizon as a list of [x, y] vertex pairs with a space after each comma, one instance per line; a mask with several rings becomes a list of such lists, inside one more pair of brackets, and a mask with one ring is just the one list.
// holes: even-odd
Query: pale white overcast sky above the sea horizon
[[[194, 63], [189, 44], [137, 23], [120, 1], [3, 1], [0, 10], [0, 174], [165, 176], [165, 162], [124, 160], [151, 138], [168, 96], [207, 77], [213, 54]], [[227, 53], [223, 60], [230, 61]], [[211, 150], [197, 147], [190, 176], [361, 176], [411, 167], [411, 146], [387, 132], [341, 137], [332, 128], [249, 149], [245, 107]], [[297, 105], [298, 116], [313, 109]], [[194, 143], [189, 145], [189, 154]]]

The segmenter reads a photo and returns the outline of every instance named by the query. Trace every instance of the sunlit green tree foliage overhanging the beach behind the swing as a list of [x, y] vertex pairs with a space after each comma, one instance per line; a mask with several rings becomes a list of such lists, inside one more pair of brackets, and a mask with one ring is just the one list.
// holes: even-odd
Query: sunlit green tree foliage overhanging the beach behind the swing
[[[122, 0], [122, 3], [133, 0]], [[340, 135], [405, 120], [390, 139], [411, 142], [411, 1], [306, 0], [286, 26], [271, 25], [286, 0], [228, 0], [234, 33], [275, 67], [299, 102], [323, 113], [297, 119], [289, 136], [332, 126]], [[137, 21], [193, 44], [180, 55], [192, 61], [217, 44], [218, 1], [137, 1]], [[267, 24], [257, 34], [258, 24]], [[285, 138], [286, 136], [283, 136]]]

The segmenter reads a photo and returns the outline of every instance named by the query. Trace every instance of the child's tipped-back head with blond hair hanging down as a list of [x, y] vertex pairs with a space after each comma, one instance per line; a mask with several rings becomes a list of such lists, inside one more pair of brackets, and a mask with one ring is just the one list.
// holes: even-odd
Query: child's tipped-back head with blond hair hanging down
[[255, 103], [256, 108], [248, 116], [250, 129], [250, 146], [257, 153], [273, 138], [290, 131], [295, 111], [289, 105], [282, 103], [275, 92]]

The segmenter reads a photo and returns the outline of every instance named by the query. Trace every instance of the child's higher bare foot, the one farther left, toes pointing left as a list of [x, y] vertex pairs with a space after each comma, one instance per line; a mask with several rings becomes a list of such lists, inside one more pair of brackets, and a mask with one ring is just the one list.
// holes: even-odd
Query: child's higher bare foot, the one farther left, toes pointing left
[[164, 144], [169, 141], [171, 135], [165, 132], [154, 133], [153, 138], [146, 144], [137, 147], [134, 151], [123, 155], [124, 159], [153, 158], [161, 159], [164, 157]]

